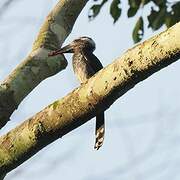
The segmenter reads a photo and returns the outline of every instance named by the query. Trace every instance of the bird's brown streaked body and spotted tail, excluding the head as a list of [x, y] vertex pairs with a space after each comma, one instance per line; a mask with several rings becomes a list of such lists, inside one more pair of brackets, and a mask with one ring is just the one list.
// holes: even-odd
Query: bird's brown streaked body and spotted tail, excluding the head
[[[86, 48], [82, 47], [78, 48], [78, 46], [74, 49], [72, 64], [74, 73], [81, 83], [87, 81], [87, 79], [103, 68], [101, 62], [92, 51], [88, 51]], [[102, 112], [96, 115], [95, 149], [98, 150], [102, 146], [104, 134], [105, 122], [104, 112]]]

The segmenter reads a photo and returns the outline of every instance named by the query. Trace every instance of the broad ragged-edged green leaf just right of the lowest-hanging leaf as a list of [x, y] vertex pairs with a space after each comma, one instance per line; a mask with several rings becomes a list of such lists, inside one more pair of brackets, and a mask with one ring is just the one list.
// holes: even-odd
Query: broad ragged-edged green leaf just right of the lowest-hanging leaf
[[151, 14], [148, 16], [148, 27], [151, 27], [153, 30], [158, 30], [164, 23], [167, 15], [166, 7], [162, 7], [159, 11], [151, 9]]

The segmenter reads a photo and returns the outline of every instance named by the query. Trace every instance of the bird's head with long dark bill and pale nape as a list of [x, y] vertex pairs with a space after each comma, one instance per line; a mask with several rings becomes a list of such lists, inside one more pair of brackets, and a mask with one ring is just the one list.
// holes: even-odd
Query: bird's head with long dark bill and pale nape
[[49, 53], [49, 56], [55, 56], [63, 53], [74, 53], [75, 51], [93, 52], [96, 48], [95, 42], [89, 37], [80, 37], [75, 39], [67, 46]]

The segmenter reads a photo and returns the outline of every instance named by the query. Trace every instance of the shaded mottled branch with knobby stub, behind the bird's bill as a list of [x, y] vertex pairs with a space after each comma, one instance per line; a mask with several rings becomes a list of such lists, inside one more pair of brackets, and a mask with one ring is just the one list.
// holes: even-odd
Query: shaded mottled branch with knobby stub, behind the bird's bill
[[0, 85], [0, 128], [42, 80], [67, 66], [63, 56], [49, 58], [47, 55], [62, 45], [87, 1], [61, 0], [47, 16], [32, 51]]

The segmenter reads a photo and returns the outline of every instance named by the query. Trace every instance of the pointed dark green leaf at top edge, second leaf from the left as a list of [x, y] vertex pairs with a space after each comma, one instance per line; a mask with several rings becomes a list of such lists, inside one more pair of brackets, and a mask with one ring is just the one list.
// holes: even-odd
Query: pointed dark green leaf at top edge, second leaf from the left
[[121, 16], [121, 8], [119, 7], [120, 3], [121, 3], [120, 0], [113, 0], [110, 6], [110, 14], [114, 19], [114, 23]]

